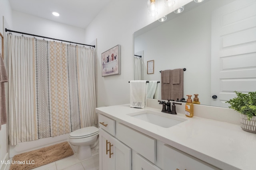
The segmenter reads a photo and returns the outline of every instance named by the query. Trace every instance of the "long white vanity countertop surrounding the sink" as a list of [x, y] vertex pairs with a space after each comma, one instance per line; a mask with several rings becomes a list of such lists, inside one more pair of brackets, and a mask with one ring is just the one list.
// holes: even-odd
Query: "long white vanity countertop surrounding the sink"
[[[164, 128], [127, 115], [145, 110], [187, 121]], [[129, 104], [99, 107], [96, 112], [220, 169], [256, 170], [256, 134], [243, 131], [239, 125], [195, 116], [189, 118], [179, 113], [170, 115], [152, 107], [132, 108]]]

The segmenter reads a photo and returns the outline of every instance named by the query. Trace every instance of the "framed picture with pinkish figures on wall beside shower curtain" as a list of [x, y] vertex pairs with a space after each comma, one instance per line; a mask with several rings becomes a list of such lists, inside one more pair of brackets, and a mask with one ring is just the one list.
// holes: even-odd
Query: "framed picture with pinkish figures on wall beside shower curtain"
[[102, 77], [121, 74], [120, 45], [101, 54]]

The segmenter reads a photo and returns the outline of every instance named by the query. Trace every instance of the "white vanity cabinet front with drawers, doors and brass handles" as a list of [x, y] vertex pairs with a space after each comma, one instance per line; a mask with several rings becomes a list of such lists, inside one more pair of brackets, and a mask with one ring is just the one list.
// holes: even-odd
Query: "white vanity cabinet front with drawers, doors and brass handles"
[[100, 170], [218, 170], [104, 115], [99, 122]]

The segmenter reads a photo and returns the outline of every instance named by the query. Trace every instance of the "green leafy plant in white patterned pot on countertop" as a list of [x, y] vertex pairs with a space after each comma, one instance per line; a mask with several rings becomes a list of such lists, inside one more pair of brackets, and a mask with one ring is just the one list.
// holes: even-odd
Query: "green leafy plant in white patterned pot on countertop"
[[236, 97], [226, 103], [230, 104], [229, 108], [241, 113], [241, 128], [256, 133], [256, 92], [235, 93]]

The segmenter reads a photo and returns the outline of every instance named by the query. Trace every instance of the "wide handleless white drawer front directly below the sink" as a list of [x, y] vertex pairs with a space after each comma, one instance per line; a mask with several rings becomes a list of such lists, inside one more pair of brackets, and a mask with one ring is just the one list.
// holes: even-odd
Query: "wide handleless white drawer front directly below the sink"
[[156, 139], [121, 123], [116, 123], [116, 138], [140, 153], [144, 158], [156, 163]]

